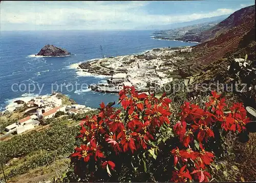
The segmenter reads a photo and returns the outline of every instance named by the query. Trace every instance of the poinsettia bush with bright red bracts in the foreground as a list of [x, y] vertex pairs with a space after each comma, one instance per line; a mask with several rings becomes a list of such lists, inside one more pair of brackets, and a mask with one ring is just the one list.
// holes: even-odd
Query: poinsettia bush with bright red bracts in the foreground
[[249, 122], [241, 103], [226, 113], [225, 99], [211, 94], [204, 108], [185, 102], [174, 111], [166, 94], [124, 86], [121, 107], [101, 103], [98, 115], [81, 121], [74, 173], [81, 181], [209, 181], [220, 131], [240, 133]]

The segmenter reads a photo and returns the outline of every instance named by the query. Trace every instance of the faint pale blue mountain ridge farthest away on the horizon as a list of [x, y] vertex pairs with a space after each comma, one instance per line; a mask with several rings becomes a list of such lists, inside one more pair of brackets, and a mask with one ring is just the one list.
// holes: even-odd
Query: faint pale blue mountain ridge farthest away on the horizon
[[185, 22], [179, 22], [179, 23], [174, 23], [174, 24], [168, 24], [168, 25], [150, 25], [150, 26], [145, 26], [145, 27], [137, 27], [135, 29], [149, 29], [149, 30], [168, 30], [168, 29], [176, 29], [180, 27], [186, 27], [186, 26], [191, 26], [195, 24], [202, 24], [202, 23], [207, 23], [207, 22], [212, 22], [212, 21], [222, 21], [225, 18], [227, 18], [230, 14], [226, 15], [220, 15], [220, 16], [212, 16], [208, 18], [201, 18], [201, 19], [196, 19], [193, 21], [185, 21]]

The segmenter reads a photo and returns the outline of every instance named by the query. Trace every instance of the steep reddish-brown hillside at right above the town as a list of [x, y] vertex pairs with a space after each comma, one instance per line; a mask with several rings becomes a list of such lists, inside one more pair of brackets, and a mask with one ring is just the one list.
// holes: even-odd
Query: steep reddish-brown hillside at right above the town
[[[196, 45], [190, 53], [177, 53], [177, 56], [183, 56], [187, 60], [180, 65], [182, 66], [179, 68], [181, 75], [186, 77], [197, 74], [202, 71], [203, 66], [229, 56], [247, 54], [249, 59], [255, 59], [255, 13], [251, 14], [254, 12], [255, 6], [241, 10], [222, 21], [222, 25], [223, 22], [228, 22], [228, 25], [218, 29], [218, 34], [220, 32], [222, 34], [215, 39]], [[238, 12], [241, 13], [240, 16]], [[245, 14], [245, 12], [248, 13]], [[233, 18], [234, 22], [230, 22], [230, 17], [235, 17]], [[230, 26], [234, 27], [227, 30], [227, 27]]]

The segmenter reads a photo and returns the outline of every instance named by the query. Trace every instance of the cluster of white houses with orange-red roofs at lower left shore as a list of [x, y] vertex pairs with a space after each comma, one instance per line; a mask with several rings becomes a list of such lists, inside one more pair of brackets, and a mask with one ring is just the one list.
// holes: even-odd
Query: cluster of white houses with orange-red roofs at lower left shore
[[[6, 126], [5, 131], [7, 133], [5, 135], [11, 134], [15, 131], [17, 134], [19, 134], [26, 130], [33, 129], [36, 125], [39, 125], [39, 118], [53, 118], [58, 111], [71, 115], [72, 113], [77, 114], [79, 112], [92, 110], [90, 107], [79, 104], [74, 104], [71, 106], [62, 105], [62, 100], [58, 99], [56, 95], [36, 97], [27, 103], [21, 101], [19, 101], [19, 103], [22, 104], [23, 107], [25, 105], [29, 107], [27, 110], [25, 110], [25, 113], [30, 116]], [[18, 107], [20, 107], [20, 104]]]

